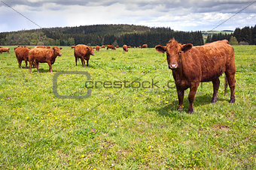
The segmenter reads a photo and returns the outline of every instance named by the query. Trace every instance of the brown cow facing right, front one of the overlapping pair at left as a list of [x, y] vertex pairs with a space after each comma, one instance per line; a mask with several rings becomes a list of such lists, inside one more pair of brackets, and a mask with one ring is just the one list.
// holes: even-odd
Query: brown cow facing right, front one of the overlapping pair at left
[[[57, 46], [53, 46], [52, 49], [40, 49], [34, 48], [29, 51], [29, 72], [32, 73], [31, 67], [33, 62], [36, 64], [38, 70], [39, 63], [47, 63], [49, 65], [50, 73], [53, 73], [51, 65], [54, 64], [56, 57], [61, 56], [62, 53]], [[39, 73], [39, 70], [38, 70]]]

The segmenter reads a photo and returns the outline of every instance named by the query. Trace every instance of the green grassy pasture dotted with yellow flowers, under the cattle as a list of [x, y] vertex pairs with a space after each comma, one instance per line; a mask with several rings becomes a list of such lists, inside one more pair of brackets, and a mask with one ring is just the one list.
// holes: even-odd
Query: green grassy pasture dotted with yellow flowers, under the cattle
[[[9, 47], [0, 54], [0, 169], [255, 169], [256, 46], [234, 46], [236, 103], [228, 103], [230, 91], [224, 96], [221, 76], [218, 102], [210, 103], [212, 82], [203, 83], [193, 115], [188, 91], [177, 111], [166, 55], [154, 49], [101, 49], [84, 68], [64, 46], [53, 73], [40, 64], [41, 73], [30, 74]], [[59, 71], [90, 73], [90, 97], [55, 97]], [[85, 95], [86, 81], [60, 75], [57, 92]], [[111, 85], [120, 81], [126, 88]], [[139, 82], [149, 88], [136, 88]]]

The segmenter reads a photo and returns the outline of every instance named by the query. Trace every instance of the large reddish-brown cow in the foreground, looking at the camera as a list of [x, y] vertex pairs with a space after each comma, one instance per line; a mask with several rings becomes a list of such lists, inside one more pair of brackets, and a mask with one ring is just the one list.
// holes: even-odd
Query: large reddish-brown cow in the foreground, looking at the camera
[[200, 82], [212, 82], [212, 103], [217, 101], [219, 76], [225, 73], [230, 85], [230, 103], [235, 103], [235, 57], [233, 47], [227, 40], [218, 40], [204, 46], [193, 46], [191, 43], [181, 45], [173, 38], [166, 46], [155, 46], [158, 52], [167, 55], [169, 69], [178, 92], [178, 109], [183, 109], [184, 90], [190, 88], [188, 94], [188, 113], [194, 112], [194, 97]]

